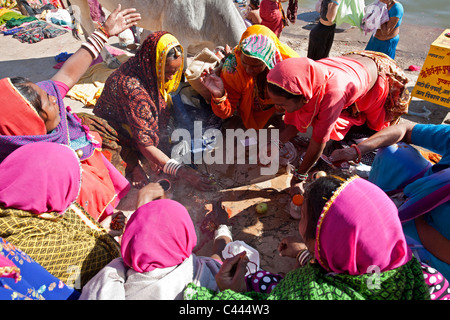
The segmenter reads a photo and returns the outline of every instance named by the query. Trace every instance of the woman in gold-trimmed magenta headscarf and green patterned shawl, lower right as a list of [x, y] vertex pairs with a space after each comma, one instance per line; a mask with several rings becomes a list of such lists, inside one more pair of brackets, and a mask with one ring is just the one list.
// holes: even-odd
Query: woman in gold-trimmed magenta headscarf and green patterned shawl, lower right
[[[190, 285], [189, 297], [430, 299], [421, 265], [407, 246], [397, 208], [381, 189], [358, 176], [330, 175], [314, 181], [305, 195], [299, 223], [304, 241], [289, 237], [278, 247], [282, 256], [297, 259], [298, 268], [288, 272], [270, 294], [239, 292], [242, 286], [234, 278], [242, 274], [246, 263], [236, 257], [225, 260], [216, 277], [220, 293]], [[235, 272], [222, 272], [232, 266]], [[229, 285], [229, 279], [235, 280], [236, 286]]]

